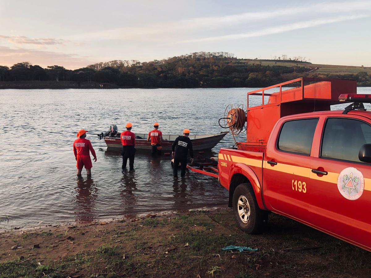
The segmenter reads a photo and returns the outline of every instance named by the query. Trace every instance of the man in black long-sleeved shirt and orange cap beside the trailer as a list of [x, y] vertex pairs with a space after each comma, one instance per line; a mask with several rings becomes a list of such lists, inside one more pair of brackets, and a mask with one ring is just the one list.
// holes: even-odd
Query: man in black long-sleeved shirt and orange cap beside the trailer
[[184, 178], [185, 176], [185, 168], [187, 168], [188, 150], [191, 156], [191, 163], [193, 163], [193, 146], [191, 139], [188, 138], [189, 133], [190, 133], [189, 129], [184, 129], [183, 136], [178, 136], [178, 138], [175, 139], [173, 145], [171, 146], [171, 149], [173, 150], [171, 155], [174, 158], [173, 175], [175, 179], [178, 178], [179, 163], [181, 169], [180, 176], [182, 178]]

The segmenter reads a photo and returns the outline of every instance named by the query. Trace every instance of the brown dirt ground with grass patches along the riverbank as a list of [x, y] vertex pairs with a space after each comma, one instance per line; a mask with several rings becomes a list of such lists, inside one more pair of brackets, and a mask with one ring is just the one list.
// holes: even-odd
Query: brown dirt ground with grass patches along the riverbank
[[[228, 245], [258, 250], [221, 250]], [[0, 234], [0, 277], [370, 277], [370, 271], [371, 252], [275, 214], [265, 234], [248, 235], [231, 209]]]

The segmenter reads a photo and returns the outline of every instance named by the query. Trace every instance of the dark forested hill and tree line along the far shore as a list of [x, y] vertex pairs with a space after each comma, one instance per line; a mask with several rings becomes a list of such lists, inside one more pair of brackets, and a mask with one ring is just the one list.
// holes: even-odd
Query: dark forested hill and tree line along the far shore
[[264, 87], [301, 76], [355, 79], [359, 86], [371, 86], [370, 69], [363, 66], [345, 72], [345, 69], [339, 70], [341, 66], [332, 69], [327, 65], [314, 65], [303, 61], [302, 57], [258, 60], [233, 56], [226, 52], [196, 52], [151, 62], [114, 60], [76, 70], [57, 65], [42, 68], [22, 62], [12, 67], [0, 66], [0, 88], [17, 84], [98, 87], [98, 83], [143, 88]]

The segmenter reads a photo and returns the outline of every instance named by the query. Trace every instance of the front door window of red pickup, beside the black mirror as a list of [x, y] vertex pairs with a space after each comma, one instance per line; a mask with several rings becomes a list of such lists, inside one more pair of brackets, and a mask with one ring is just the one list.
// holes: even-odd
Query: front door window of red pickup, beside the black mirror
[[[321, 157], [361, 162], [359, 149], [371, 143], [371, 126], [346, 118], [330, 118], [322, 139]], [[361, 162], [363, 163], [363, 162]]]

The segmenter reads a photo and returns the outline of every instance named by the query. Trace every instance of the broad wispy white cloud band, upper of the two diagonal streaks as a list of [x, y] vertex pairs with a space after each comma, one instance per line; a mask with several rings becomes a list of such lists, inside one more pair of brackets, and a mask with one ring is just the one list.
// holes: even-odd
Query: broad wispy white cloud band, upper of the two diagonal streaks
[[[318, 14], [336, 14], [336, 13], [364, 13], [371, 11], [371, 1], [343, 1], [343, 2], [328, 2], [315, 3], [308, 6], [298, 7], [282, 7], [275, 10], [253, 11], [247, 13], [232, 14], [227, 16], [211, 16], [198, 17], [193, 19], [184, 19], [171, 22], [163, 22], [159, 24], [151, 24], [142, 27], [121, 27], [96, 32], [83, 33], [70, 36], [70, 39], [78, 40], [148, 40], [150, 35], [157, 36], [158, 34], [168, 35], [171, 32], [180, 30], [196, 30], [201, 32], [204, 30], [220, 29], [223, 27], [234, 26], [243, 23], [267, 20], [287, 20], [293, 18], [302, 18], [304, 16], [313, 17]], [[276, 22], [274, 23], [276, 24]], [[147, 36], [148, 35], [148, 36]], [[147, 37], [146, 37], [147, 36]]]

